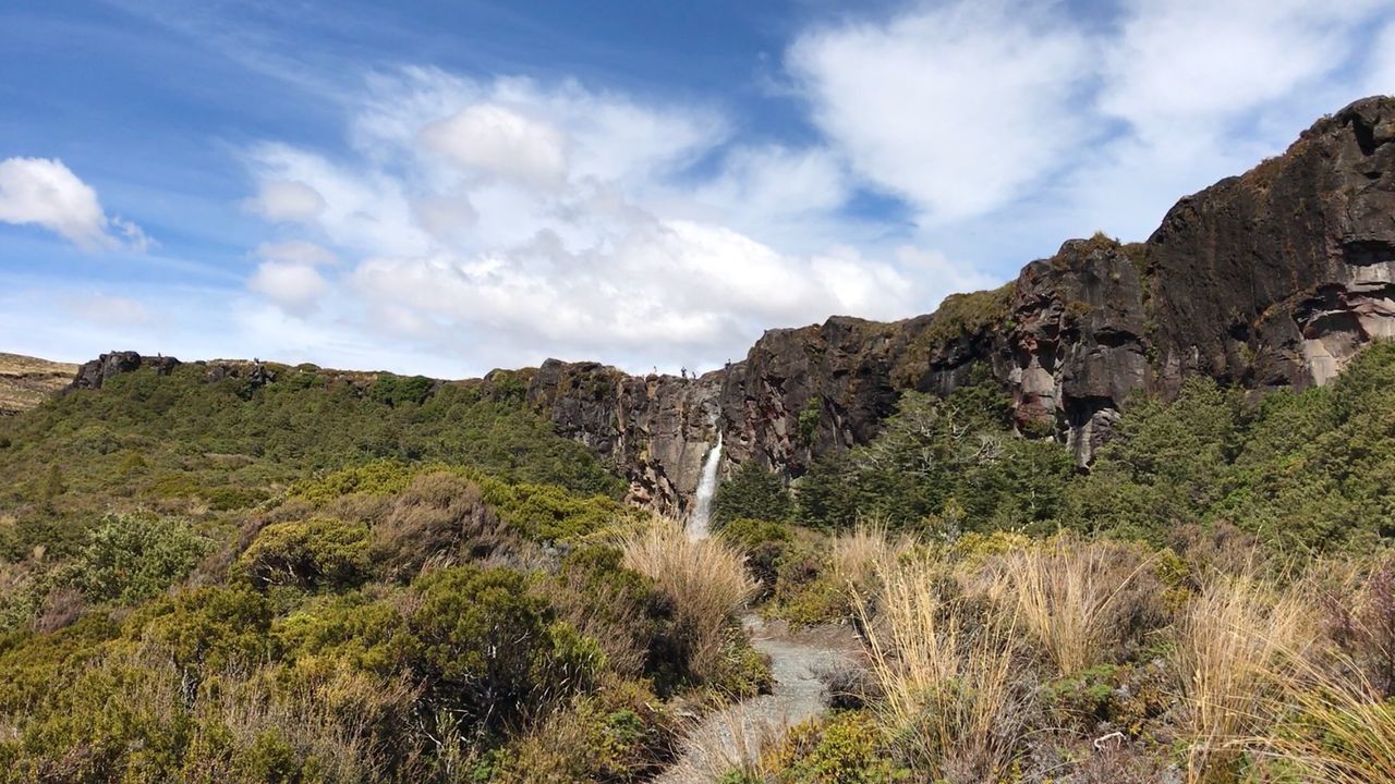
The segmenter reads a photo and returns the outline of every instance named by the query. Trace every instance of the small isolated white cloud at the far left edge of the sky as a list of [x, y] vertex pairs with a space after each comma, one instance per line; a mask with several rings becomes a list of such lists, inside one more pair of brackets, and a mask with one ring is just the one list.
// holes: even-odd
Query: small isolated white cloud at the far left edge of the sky
[[42, 226], [85, 250], [151, 244], [135, 223], [107, 216], [96, 191], [57, 159], [0, 160], [0, 222]]

